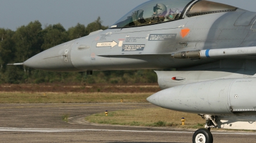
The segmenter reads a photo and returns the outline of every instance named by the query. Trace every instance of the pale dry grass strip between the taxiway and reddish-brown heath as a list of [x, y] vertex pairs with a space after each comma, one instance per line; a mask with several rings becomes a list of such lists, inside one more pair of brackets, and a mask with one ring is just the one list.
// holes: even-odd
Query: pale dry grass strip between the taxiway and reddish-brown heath
[[28, 93], [1, 92], [0, 103], [147, 103], [153, 93]]

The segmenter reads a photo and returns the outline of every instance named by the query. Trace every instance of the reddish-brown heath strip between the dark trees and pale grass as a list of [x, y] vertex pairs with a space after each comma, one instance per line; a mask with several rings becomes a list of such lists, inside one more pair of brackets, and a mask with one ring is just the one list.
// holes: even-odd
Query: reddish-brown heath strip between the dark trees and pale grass
[[27, 93], [156, 93], [157, 84], [0, 84], [2, 92]]

